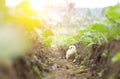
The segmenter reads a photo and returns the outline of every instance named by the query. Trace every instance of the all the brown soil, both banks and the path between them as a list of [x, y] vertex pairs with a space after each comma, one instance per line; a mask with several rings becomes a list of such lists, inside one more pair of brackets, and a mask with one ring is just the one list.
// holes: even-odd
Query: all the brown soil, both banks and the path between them
[[65, 59], [64, 46], [46, 48], [35, 41], [31, 53], [0, 65], [0, 79], [120, 79], [120, 62], [111, 63], [120, 51], [120, 40], [77, 47], [76, 62]]

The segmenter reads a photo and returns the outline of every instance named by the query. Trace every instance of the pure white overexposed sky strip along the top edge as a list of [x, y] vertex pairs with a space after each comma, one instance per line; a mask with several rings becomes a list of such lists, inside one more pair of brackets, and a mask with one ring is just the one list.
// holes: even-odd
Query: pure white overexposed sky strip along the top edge
[[[22, 0], [6, 0], [6, 5], [14, 7], [18, 5]], [[28, 0], [30, 5], [35, 10], [43, 9], [47, 3], [51, 3], [52, 5], [64, 4], [65, 0]], [[70, 2], [75, 3], [77, 7], [106, 7], [110, 5], [114, 5], [120, 0], [70, 0]]]

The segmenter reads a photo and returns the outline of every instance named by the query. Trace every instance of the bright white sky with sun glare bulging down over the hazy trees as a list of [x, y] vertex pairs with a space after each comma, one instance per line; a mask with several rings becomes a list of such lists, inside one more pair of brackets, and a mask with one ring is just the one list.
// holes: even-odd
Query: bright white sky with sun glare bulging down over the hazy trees
[[[6, 0], [6, 5], [9, 7], [16, 7], [24, 0]], [[49, 24], [56, 24], [61, 22], [62, 13], [67, 10], [67, 4], [73, 2], [76, 8], [104, 8], [119, 3], [119, 0], [26, 0], [30, 7], [27, 6], [29, 13], [32, 10], [36, 13], [37, 19], [47, 19]], [[23, 6], [24, 8], [24, 6]], [[64, 8], [64, 10], [62, 10]], [[49, 21], [50, 22], [49, 22]]]

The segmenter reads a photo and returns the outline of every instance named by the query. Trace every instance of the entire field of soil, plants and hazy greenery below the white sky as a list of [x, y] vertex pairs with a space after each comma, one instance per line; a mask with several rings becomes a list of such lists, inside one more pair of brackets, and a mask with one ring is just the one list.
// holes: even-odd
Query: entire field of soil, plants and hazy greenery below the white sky
[[[69, 4], [60, 21], [36, 18], [23, 4], [1, 6], [0, 79], [120, 79], [119, 3], [94, 10]], [[76, 55], [67, 59], [71, 45]]]

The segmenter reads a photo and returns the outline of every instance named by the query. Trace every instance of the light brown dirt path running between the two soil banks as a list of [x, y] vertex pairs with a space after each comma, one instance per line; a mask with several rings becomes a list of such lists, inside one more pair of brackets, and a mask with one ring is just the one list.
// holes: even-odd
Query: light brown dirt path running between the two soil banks
[[52, 56], [49, 59], [53, 62], [49, 66], [50, 72], [53, 75], [51, 79], [89, 79], [91, 76], [89, 69], [80, 69], [80, 66], [65, 59], [59, 49], [54, 49]]

